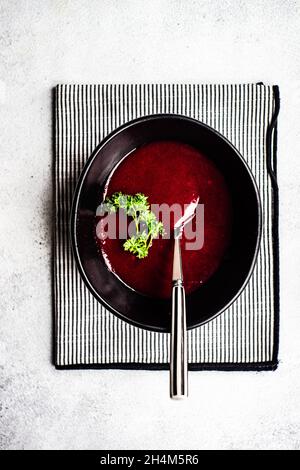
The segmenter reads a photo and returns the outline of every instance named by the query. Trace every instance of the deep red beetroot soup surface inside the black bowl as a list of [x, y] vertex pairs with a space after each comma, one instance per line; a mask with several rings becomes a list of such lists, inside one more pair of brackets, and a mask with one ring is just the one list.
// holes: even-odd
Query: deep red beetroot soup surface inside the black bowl
[[[203, 224], [197, 216], [184, 228], [181, 240], [186, 293], [196, 290], [218, 269], [230, 239], [231, 202], [224, 177], [214, 163], [195, 148], [173, 141], [138, 148], [115, 168], [104, 196], [121, 191], [143, 193], [152, 204], [180, 204], [182, 210], [197, 202], [204, 205]], [[161, 217], [160, 217], [161, 218]], [[196, 220], [197, 219], [197, 220]], [[165, 227], [173, 233], [171, 227]], [[202, 218], [203, 221], [203, 218]], [[194, 238], [192, 235], [194, 234]], [[199, 249], [187, 249], [196, 241]], [[123, 282], [149, 296], [168, 298], [172, 291], [173, 239], [153, 240], [149, 254], [138, 259], [124, 251], [124, 239], [96, 237], [106, 264]]]

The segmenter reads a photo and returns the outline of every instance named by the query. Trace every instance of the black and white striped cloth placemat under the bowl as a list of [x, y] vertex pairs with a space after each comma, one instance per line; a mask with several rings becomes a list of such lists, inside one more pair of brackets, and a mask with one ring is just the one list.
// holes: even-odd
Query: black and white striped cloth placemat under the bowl
[[276, 136], [269, 138], [269, 147], [267, 138], [276, 112], [275, 89], [263, 84], [57, 86], [56, 366], [167, 367], [168, 334], [128, 325], [89, 293], [72, 256], [68, 223], [76, 181], [97, 144], [136, 117], [178, 113], [212, 126], [237, 147], [256, 178], [263, 206], [263, 237], [253, 275], [231, 307], [215, 320], [189, 331], [190, 366], [245, 370], [276, 367], [277, 197], [274, 175], [272, 180], [268, 173]]

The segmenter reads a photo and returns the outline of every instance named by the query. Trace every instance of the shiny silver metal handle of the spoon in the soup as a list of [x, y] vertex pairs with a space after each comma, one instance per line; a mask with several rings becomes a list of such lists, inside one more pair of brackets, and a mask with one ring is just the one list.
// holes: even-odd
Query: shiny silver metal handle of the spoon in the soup
[[177, 280], [172, 290], [172, 332], [170, 361], [170, 396], [174, 399], [188, 396], [188, 362], [185, 291]]

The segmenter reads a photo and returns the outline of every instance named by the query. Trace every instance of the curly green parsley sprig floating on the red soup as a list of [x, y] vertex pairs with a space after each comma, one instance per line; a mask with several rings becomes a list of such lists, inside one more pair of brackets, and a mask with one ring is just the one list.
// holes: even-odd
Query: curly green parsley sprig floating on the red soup
[[160, 234], [164, 234], [162, 222], [159, 222], [154, 212], [150, 210], [148, 197], [142, 193], [123, 194], [114, 193], [104, 201], [107, 212], [117, 212], [123, 209], [125, 213], [132, 217], [135, 223], [135, 235], [132, 235], [124, 243], [125, 251], [137, 256], [137, 258], [146, 258], [152, 241]]

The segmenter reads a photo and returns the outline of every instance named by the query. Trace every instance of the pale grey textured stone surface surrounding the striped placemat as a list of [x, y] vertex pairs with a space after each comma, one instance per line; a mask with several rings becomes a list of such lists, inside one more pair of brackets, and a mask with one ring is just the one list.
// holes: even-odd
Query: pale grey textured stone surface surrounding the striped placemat
[[[1, 447], [300, 448], [300, 2], [0, 0]], [[52, 122], [58, 82], [281, 86], [281, 363], [266, 373], [56, 371]]]

